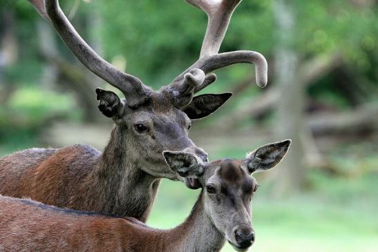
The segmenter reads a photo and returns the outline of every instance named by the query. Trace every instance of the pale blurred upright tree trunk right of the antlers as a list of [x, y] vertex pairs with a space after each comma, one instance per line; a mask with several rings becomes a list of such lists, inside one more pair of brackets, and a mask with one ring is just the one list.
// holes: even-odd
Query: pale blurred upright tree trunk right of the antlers
[[304, 184], [303, 107], [304, 88], [298, 75], [299, 55], [294, 50], [296, 36], [294, 6], [288, 0], [275, 1], [277, 45], [275, 78], [280, 99], [276, 111], [277, 139], [292, 139], [287, 156], [275, 171], [275, 194], [296, 191]]

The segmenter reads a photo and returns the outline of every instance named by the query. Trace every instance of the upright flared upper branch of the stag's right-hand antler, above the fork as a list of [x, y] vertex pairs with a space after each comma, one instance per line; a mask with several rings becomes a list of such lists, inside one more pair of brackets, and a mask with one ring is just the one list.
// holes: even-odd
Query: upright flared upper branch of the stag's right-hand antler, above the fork
[[241, 0], [185, 0], [207, 13], [208, 23], [202, 42], [200, 58], [218, 53], [225, 37], [229, 20]]

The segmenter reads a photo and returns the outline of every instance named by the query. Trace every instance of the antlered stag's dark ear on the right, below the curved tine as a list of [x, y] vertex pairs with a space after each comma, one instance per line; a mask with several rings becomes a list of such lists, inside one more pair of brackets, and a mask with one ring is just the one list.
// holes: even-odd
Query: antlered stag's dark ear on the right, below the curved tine
[[182, 111], [188, 115], [190, 119], [200, 119], [207, 117], [215, 110], [220, 108], [232, 93], [223, 93], [219, 95], [198, 95], [193, 97], [191, 103], [184, 108]]

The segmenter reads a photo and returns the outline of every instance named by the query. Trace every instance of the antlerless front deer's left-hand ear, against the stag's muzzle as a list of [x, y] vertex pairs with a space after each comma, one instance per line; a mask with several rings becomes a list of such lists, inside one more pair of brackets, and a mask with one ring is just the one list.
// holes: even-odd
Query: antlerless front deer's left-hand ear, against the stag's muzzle
[[165, 162], [181, 177], [197, 178], [202, 175], [203, 164], [196, 155], [180, 151], [164, 151]]

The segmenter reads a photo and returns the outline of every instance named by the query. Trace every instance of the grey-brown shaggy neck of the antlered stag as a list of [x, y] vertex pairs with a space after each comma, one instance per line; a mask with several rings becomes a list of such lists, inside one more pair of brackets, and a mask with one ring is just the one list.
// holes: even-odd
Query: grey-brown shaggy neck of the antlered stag
[[[126, 134], [115, 126], [111, 139], [99, 157], [93, 174], [88, 177], [88, 193], [98, 196], [97, 208], [102, 213], [147, 220], [160, 180], [145, 173], [129, 157]], [[93, 197], [93, 195], [91, 196]]]

